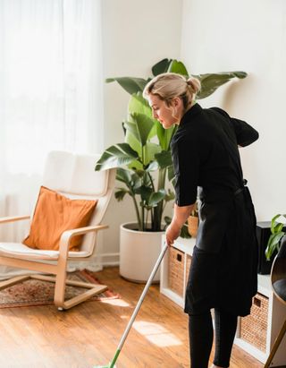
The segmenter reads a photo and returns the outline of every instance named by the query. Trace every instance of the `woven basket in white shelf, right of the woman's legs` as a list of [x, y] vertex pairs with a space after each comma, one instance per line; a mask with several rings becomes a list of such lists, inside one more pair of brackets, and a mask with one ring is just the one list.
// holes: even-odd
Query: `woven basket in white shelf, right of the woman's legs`
[[258, 293], [253, 298], [250, 314], [241, 318], [240, 325], [240, 338], [263, 352], [266, 351], [267, 316], [268, 298]]

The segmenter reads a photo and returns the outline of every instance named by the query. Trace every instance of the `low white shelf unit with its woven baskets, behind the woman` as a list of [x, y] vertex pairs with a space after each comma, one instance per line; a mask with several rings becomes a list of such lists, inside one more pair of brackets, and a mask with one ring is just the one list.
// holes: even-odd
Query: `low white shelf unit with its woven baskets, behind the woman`
[[[160, 291], [182, 308], [195, 243], [194, 238], [178, 238], [172, 249], [165, 254], [161, 265]], [[234, 343], [265, 363], [285, 319], [286, 308], [273, 295], [270, 276], [258, 275], [258, 292], [253, 301], [251, 314], [239, 319]], [[272, 366], [279, 365], [286, 365], [286, 336], [273, 359]]]

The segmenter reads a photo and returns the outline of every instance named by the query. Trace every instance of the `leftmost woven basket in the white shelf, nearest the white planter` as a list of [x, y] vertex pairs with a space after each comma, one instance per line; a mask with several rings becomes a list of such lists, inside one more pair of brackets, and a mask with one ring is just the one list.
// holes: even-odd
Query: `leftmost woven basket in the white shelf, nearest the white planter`
[[172, 246], [169, 247], [169, 288], [177, 295], [183, 295], [184, 253]]

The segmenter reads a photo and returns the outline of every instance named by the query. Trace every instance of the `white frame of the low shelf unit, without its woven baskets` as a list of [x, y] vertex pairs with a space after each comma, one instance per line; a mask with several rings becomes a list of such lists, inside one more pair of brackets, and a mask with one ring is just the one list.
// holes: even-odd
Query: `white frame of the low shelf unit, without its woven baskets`
[[[169, 287], [169, 252], [164, 256], [164, 260], [161, 264], [161, 282], [160, 282], [160, 291], [162, 294], [169, 297], [174, 303], [184, 307], [185, 300], [185, 289], [186, 289], [186, 274], [187, 274], [187, 255], [191, 256], [194, 246], [196, 244], [196, 239], [183, 239], [178, 238], [173, 247], [183, 253], [183, 293], [182, 295], [176, 294]], [[164, 236], [162, 237], [162, 246], [164, 246]], [[260, 350], [259, 348], [251, 345], [245, 339], [241, 338], [241, 330], [240, 323], [241, 319], [239, 319], [237, 336], [234, 340], [234, 343], [241, 347], [243, 350], [248, 352], [248, 354], [254, 356], [261, 363], [265, 363], [271, 347], [273, 347], [273, 343], [275, 341], [276, 336], [278, 335], [279, 330], [282, 327], [283, 321], [286, 318], [286, 308], [282, 305], [281, 302], [277, 300], [277, 298], [273, 295], [273, 290], [271, 287], [270, 276], [269, 275], [258, 275], [258, 293], [260, 295], [265, 296], [268, 299], [267, 306], [267, 329], [266, 329], [266, 337], [265, 337], [265, 351]], [[273, 363], [271, 366], [280, 366], [286, 365], [286, 336], [284, 336], [282, 343], [276, 352], [276, 355], [273, 358]]]

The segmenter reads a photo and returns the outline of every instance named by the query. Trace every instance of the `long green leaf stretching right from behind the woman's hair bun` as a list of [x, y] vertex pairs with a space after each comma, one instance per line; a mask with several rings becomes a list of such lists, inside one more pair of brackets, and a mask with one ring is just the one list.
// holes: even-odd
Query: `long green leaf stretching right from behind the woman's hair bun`
[[207, 73], [194, 75], [201, 82], [201, 90], [198, 92], [197, 98], [202, 99], [210, 96], [224, 83], [231, 81], [233, 78], [245, 78], [248, 74], [245, 72], [223, 72], [223, 73]]

